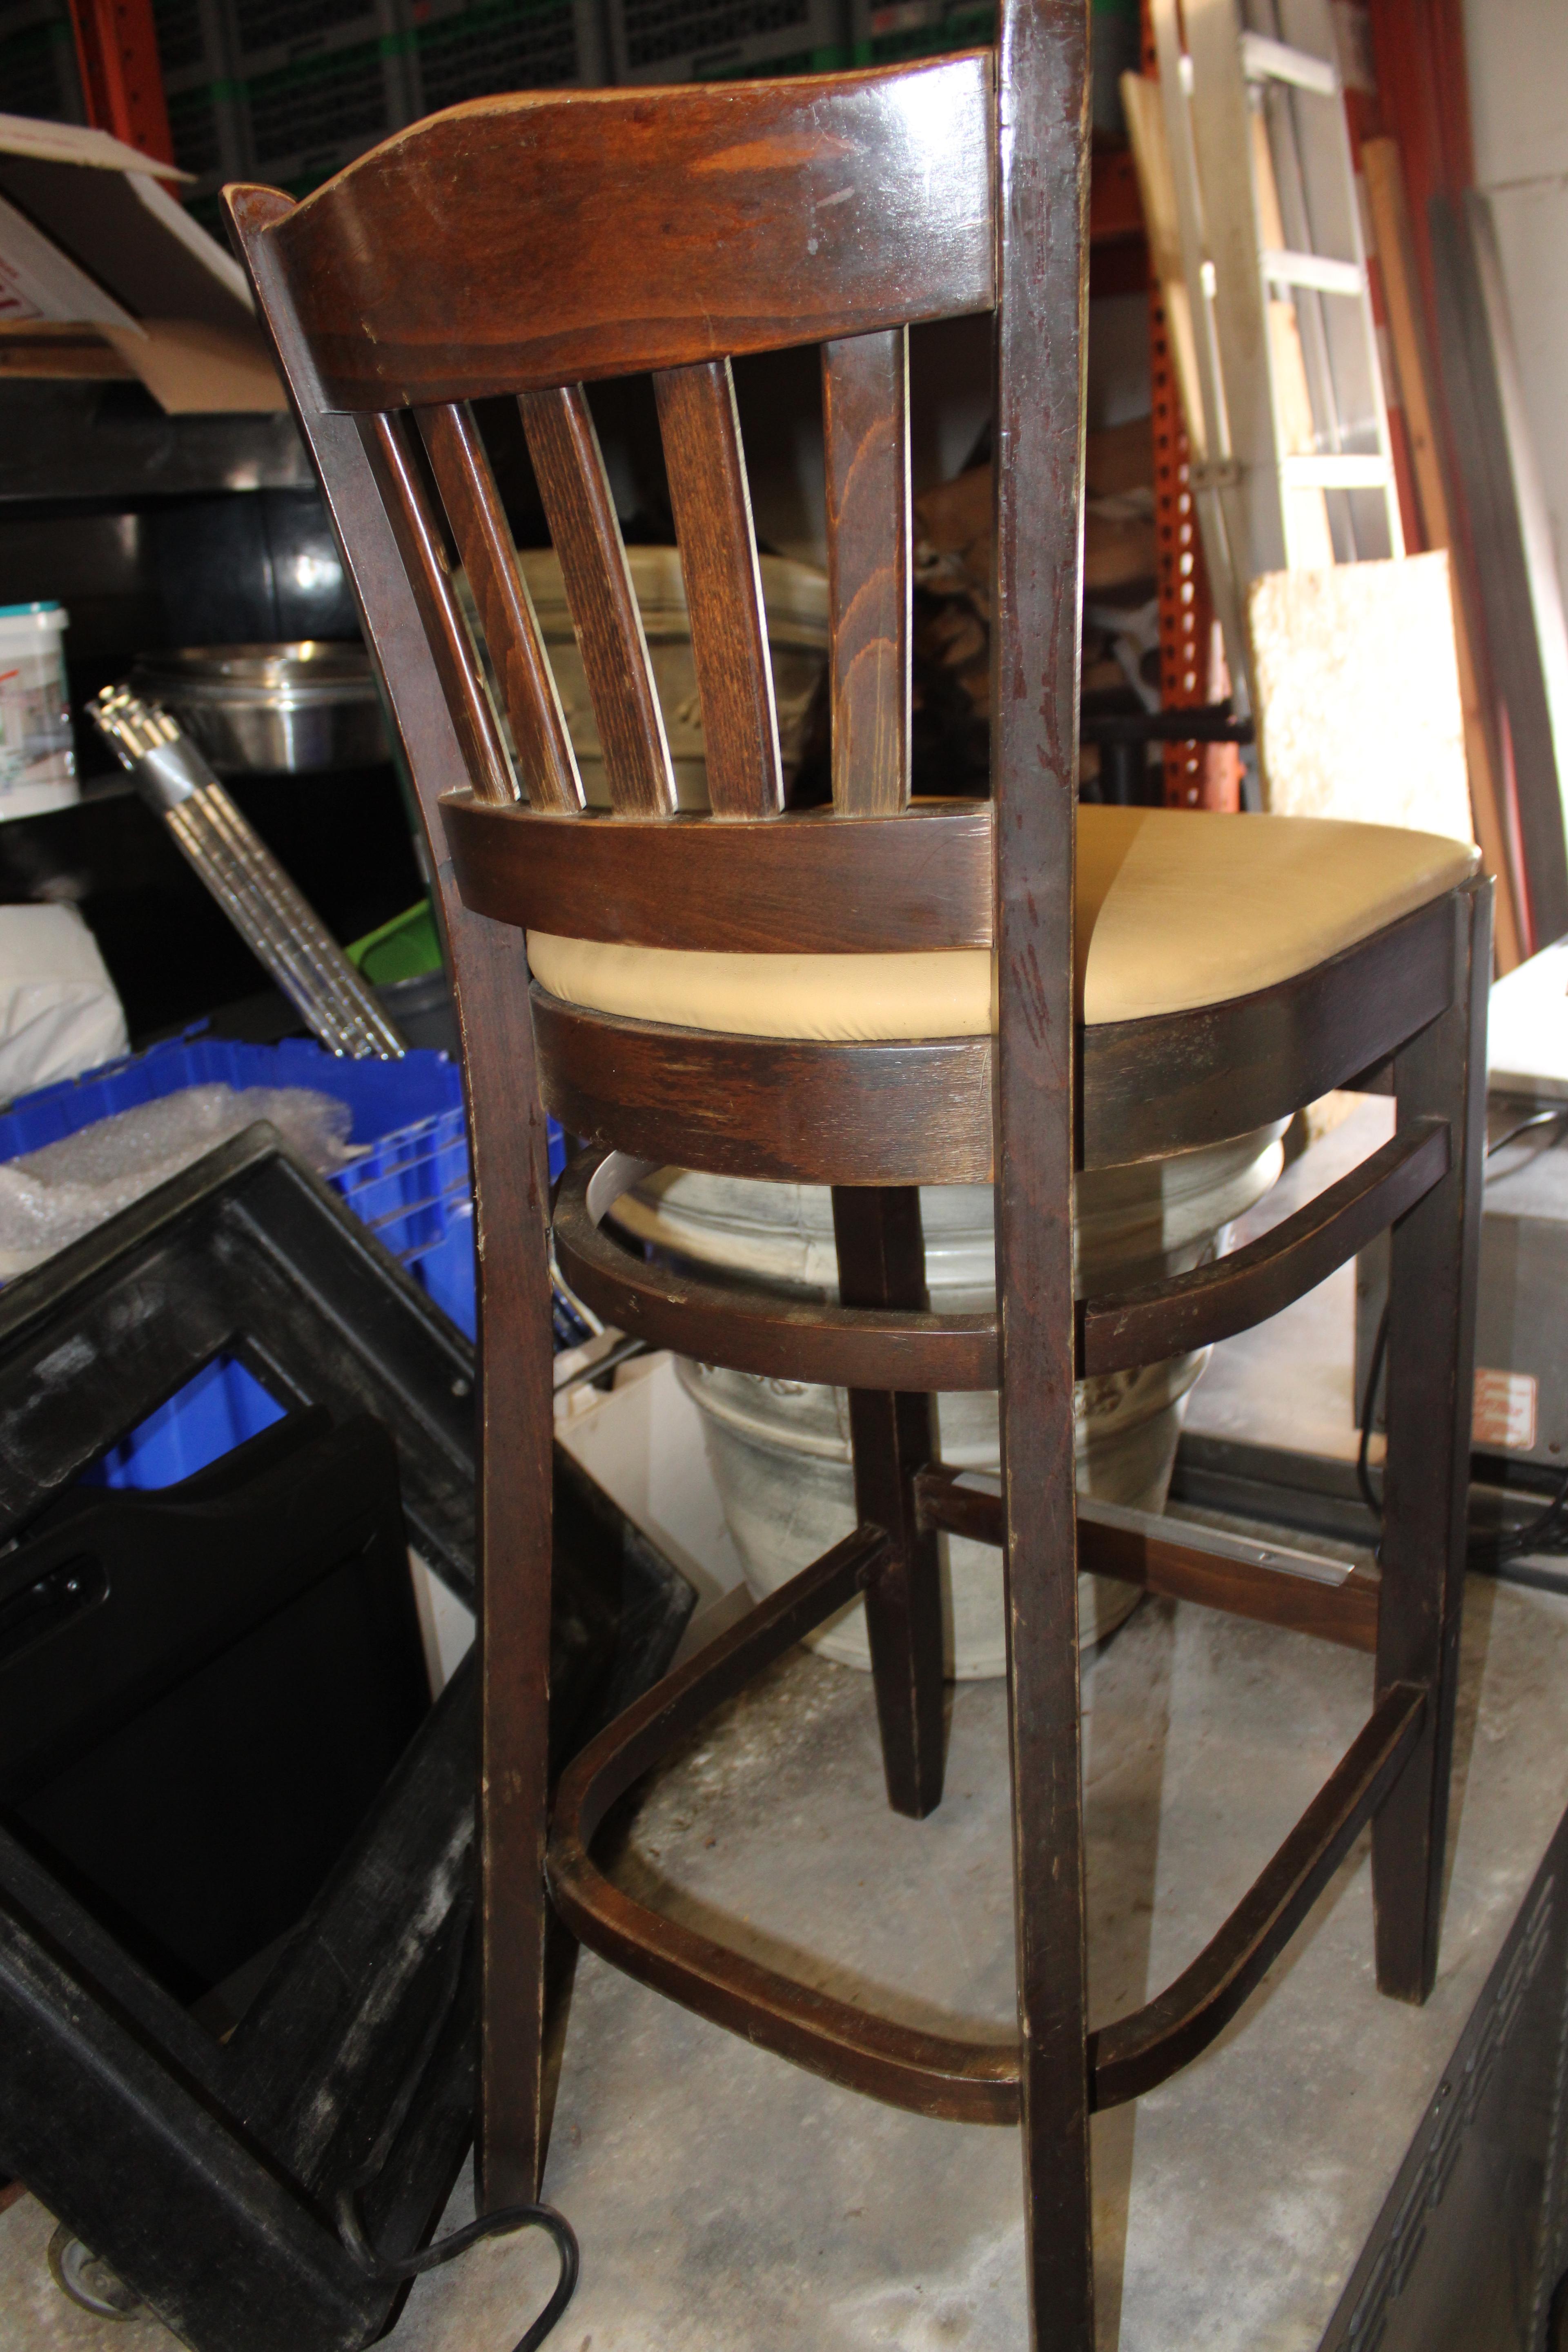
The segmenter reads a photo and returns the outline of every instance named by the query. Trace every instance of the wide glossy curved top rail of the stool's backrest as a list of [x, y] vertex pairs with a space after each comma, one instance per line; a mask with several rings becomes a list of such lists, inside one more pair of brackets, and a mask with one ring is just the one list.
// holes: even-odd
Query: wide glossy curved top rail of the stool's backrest
[[990, 89], [976, 54], [475, 99], [284, 219], [280, 292], [322, 402], [371, 409], [990, 310]]

